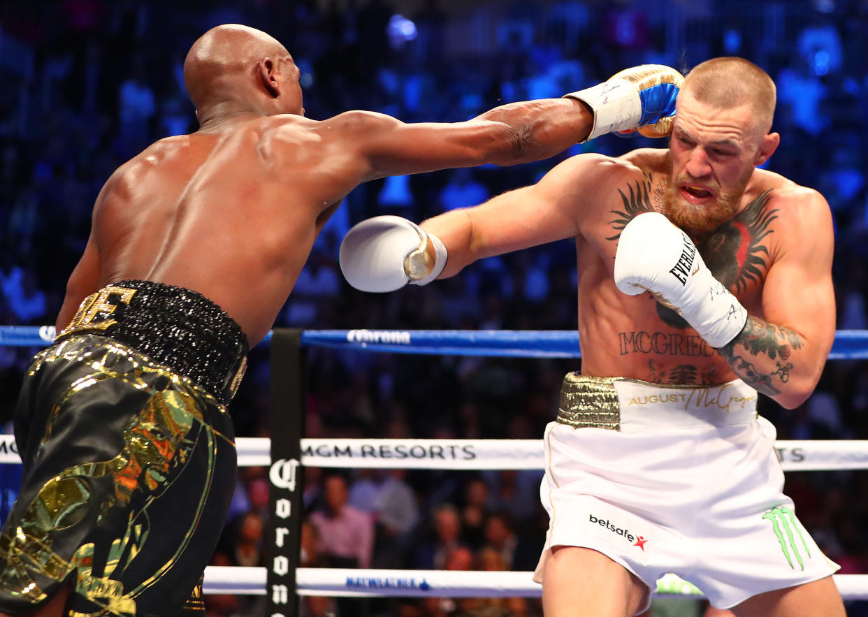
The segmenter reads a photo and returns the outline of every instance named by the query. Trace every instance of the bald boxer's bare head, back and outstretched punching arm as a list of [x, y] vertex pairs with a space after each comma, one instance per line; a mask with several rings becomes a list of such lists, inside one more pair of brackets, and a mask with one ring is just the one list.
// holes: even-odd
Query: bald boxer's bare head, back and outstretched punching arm
[[359, 183], [534, 161], [581, 141], [592, 125], [570, 99], [513, 103], [454, 124], [362, 111], [309, 120], [292, 57], [244, 26], [220, 26], [195, 43], [185, 80], [201, 128], [157, 141], [106, 182], [58, 331], [101, 286], [148, 279], [203, 293], [255, 345], [317, 234]]

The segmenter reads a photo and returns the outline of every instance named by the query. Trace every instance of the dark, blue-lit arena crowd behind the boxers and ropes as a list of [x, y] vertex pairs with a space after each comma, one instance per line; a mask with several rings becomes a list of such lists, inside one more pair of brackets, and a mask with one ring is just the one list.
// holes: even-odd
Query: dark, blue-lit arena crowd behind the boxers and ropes
[[[767, 168], [821, 191], [836, 223], [838, 329], [865, 329], [865, 138], [868, 3], [815, 2], [140, 2], [0, 3], [0, 325], [53, 324], [89, 213], [109, 174], [158, 138], [194, 130], [184, 55], [218, 23], [276, 36], [302, 70], [307, 115], [352, 108], [404, 121], [460, 121], [502, 102], [560, 96], [646, 62], [686, 71], [744, 56], [778, 83]], [[373, 181], [320, 236], [278, 324], [315, 328], [575, 328], [571, 242], [488, 259], [463, 275], [388, 295], [352, 290], [337, 246], [378, 214], [422, 220], [536, 181], [569, 154], [621, 154], [659, 141], [604, 136], [561, 157]], [[292, 207], [292, 204], [287, 204]], [[219, 239], [215, 239], [219, 241]], [[227, 251], [232, 246], [226, 246]], [[11, 431], [21, 376], [36, 349], [0, 346], [0, 419]], [[537, 439], [556, 410], [569, 360], [455, 358], [310, 351], [306, 436]], [[239, 436], [268, 436], [266, 345], [232, 405]], [[762, 399], [781, 439], [868, 438], [868, 364], [827, 365], [796, 410]], [[16, 469], [0, 466], [3, 515]], [[547, 519], [541, 472], [357, 470], [350, 502], [370, 513], [374, 568], [532, 569]], [[306, 514], [323, 507], [325, 476], [307, 469]], [[868, 473], [788, 473], [799, 516], [841, 573], [868, 573]], [[266, 469], [241, 469], [219, 565], [264, 565]], [[457, 539], [445, 528], [457, 515]], [[315, 519], [314, 516], [311, 517]], [[437, 524], [439, 522], [439, 524]], [[306, 523], [302, 565], [335, 565]], [[461, 548], [462, 550], [452, 550]], [[446, 558], [454, 561], [446, 561]], [[365, 563], [366, 562], [366, 563]], [[346, 565], [346, 564], [341, 564]], [[262, 612], [261, 596], [208, 596], [209, 615]], [[305, 601], [305, 614], [540, 614], [538, 601]], [[656, 602], [654, 614], [700, 614], [699, 601]], [[852, 602], [850, 615], [866, 615]]]

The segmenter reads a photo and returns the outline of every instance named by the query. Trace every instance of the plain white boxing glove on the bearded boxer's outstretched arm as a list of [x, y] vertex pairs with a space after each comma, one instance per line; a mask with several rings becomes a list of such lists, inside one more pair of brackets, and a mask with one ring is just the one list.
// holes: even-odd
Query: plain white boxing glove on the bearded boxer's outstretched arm
[[446, 247], [399, 216], [375, 216], [352, 226], [340, 243], [340, 271], [362, 292], [427, 285], [446, 266]]

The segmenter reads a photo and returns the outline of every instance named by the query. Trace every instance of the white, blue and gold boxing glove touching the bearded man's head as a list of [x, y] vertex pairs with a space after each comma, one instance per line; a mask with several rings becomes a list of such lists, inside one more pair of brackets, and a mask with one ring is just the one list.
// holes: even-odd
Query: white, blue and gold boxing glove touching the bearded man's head
[[682, 82], [684, 75], [671, 67], [642, 64], [615, 73], [593, 88], [564, 96], [584, 102], [594, 112], [589, 140], [637, 130], [646, 137], [666, 137], [672, 133], [675, 99]]

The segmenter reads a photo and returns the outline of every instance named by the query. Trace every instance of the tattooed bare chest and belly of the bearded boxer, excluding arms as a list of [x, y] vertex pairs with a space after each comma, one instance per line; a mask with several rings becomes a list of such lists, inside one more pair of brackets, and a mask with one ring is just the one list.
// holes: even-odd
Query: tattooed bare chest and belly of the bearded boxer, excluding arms
[[[650, 293], [626, 296], [615, 287], [618, 234], [635, 215], [663, 212], [667, 150], [625, 155], [628, 167], [610, 197], [582, 210], [578, 257], [582, 372], [662, 384], [720, 384], [735, 378], [727, 362], [672, 309]], [[715, 278], [747, 311], [763, 317], [761, 292], [779, 250], [779, 221], [800, 187], [778, 174], [756, 170], [733, 220], [708, 238], [694, 239]]]

